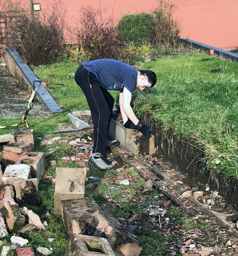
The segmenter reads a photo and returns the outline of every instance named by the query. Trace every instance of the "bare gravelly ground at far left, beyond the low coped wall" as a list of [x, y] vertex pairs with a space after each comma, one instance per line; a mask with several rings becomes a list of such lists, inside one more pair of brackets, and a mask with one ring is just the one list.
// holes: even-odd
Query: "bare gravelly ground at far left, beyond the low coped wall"
[[[6, 69], [0, 69], [0, 118], [23, 117], [31, 93], [19, 84]], [[49, 116], [52, 113], [36, 98], [28, 116]]]

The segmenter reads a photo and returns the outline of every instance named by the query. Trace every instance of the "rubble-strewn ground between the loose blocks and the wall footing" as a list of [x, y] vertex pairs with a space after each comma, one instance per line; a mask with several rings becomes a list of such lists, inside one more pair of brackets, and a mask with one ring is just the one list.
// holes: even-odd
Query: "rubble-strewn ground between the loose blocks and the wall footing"
[[[61, 135], [62, 140], [75, 141], [77, 138], [92, 137], [90, 131]], [[46, 138], [49, 138], [47, 136]], [[59, 142], [53, 141], [51, 147]], [[92, 147], [92, 140], [68, 145], [66, 150], [68, 164], [72, 162], [85, 166], [89, 152], [78, 151], [79, 146]], [[70, 158], [69, 152], [74, 154]], [[212, 218], [199, 213], [196, 217], [170, 201], [162, 191], [146, 186], [139, 171], [127, 164], [129, 155], [114, 155], [108, 152], [108, 159], [113, 161], [115, 171], [100, 172], [91, 168], [87, 172], [85, 196], [93, 196], [100, 201], [102, 209], [111, 212], [115, 218], [126, 225], [142, 241], [141, 255], [237, 255], [238, 239], [228, 230], [218, 225]], [[127, 158], [127, 162], [123, 159]], [[74, 160], [75, 159], [75, 160]], [[55, 159], [62, 161], [60, 158]], [[166, 167], [163, 162], [162, 166]], [[170, 164], [168, 166], [171, 168]], [[129, 185], [120, 182], [128, 181]], [[91, 194], [94, 193], [94, 194]], [[228, 242], [229, 241], [229, 242]], [[161, 247], [160, 247], [161, 246]], [[233, 246], [233, 247], [232, 247]], [[161, 248], [161, 249], [160, 249]], [[151, 251], [152, 250], [152, 251]], [[155, 250], [155, 251], [153, 251]]]

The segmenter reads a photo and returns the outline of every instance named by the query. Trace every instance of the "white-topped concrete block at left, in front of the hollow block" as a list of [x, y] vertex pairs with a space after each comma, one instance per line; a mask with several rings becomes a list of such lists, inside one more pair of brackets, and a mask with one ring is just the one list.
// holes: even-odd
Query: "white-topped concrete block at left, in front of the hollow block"
[[31, 178], [30, 166], [27, 164], [8, 165], [2, 176], [5, 184], [12, 184], [18, 180], [27, 180]]

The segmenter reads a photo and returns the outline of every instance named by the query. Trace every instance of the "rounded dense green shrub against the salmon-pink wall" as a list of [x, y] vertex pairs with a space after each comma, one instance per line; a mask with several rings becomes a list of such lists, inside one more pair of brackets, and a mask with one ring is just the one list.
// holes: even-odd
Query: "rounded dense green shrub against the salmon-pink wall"
[[119, 20], [118, 29], [124, 41], [151, 41], [155, 35], [154, 23], [149, 13], [128, 13]]

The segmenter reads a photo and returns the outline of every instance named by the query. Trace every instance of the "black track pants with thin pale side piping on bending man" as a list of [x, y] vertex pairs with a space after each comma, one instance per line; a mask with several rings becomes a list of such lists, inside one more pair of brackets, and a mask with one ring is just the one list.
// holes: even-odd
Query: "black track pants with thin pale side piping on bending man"
[[94, 128], [93, 153], [105, 153], [114, 98], [97, 81], [96, 76], [82, 65], [75, 73], [75, 81], [86, 96]]

